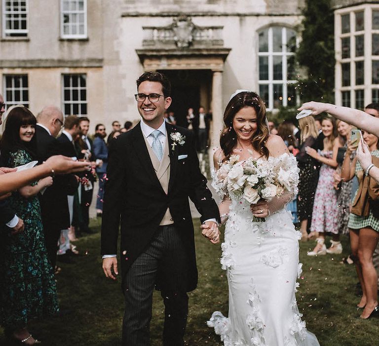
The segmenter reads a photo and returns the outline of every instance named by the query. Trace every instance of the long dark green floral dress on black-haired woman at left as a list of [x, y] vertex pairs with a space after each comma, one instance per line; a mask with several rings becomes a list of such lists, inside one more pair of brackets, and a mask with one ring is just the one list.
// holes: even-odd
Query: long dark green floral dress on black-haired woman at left
[[[25, 150], [10, 153], [9, 167], [32, 161]], [[37, 182], [31, 185], [36, 185]], [[24, 221], [24, 231], [0, 237], [0, 322], [6, 328], [26, 326], [32, 318], [59, 310], [54, 272], [47, 257], [38, 196], [24, 198], [17, 191], [9, 206]]]

